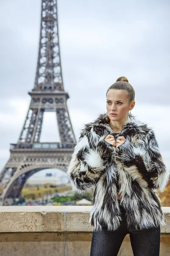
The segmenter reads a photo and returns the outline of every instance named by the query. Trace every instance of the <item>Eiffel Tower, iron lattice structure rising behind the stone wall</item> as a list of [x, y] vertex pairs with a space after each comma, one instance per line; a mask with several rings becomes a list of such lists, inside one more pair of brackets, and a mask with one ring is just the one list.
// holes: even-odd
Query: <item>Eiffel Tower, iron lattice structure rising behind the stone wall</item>
[[[10, 144], [10, 158], [0, 173], [1, 205], [5, 199], [18, 198], [34, 173], [48, 168], [66, 172], [76, 144], [62, 80], [57, 0], [42, 0], [37, 72], [34, 89], [28, 94], [31, 102], [23, 129], [17, 144]], [[60, 142], [40, 143], [45, 111], [56, 112]]]

